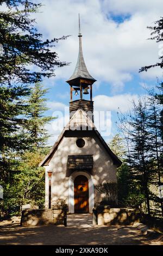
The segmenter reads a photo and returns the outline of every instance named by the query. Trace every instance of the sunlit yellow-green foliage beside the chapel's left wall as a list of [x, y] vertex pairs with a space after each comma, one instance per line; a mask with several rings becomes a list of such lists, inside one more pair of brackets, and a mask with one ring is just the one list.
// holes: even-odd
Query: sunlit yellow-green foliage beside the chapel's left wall
[[14, 183], [17, 184], [18, 197], [21, 203], [34, 202], [43, 208], [45, 198], [45, 170], [38, 167], [42, 160], [41, 150], [26, 151], [22, 156], [19, 170], [14, 174]]

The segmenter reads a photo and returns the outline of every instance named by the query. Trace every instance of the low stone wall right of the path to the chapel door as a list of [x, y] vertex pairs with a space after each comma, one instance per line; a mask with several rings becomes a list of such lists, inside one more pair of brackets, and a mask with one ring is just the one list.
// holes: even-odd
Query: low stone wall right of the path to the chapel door
[[133, 224], [140, 218], [139, 210], [97, 206], [93, 209], [93, 223], [98, 225]]

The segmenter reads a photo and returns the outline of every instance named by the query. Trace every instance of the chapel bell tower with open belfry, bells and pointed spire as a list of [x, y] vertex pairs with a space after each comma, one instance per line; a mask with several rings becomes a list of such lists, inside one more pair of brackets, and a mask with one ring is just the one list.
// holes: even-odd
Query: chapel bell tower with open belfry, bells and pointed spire
[[[82, 51], [82, 34], [80, 31], [79, 15], [79, 54], [76, 68], [72, 76], [66, 81], [70, 85], [70, 118], [79, 108], [82, 108], [89, 118], [93, 121], [93, 101], [92, 101], [92, 84], [96, 82], [89, 71], [87, 71], [83, 51]], [[89, 95], [89, 100], [84, 99], [84, 95]], [[78, 99], [73, 99], [78, 97]]]

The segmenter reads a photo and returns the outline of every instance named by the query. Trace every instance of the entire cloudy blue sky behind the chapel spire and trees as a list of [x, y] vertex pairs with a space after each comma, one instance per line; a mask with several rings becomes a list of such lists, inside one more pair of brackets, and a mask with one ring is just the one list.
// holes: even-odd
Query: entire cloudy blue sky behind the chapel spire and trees
[[[38, 1], [40, 2], [40, 1]], [[161, 47], [152, 40], [147, 26], [162, 16], [162, 0], [42, 0], [41, 13], [34, 14], [39, 32], [43, 38], [59, 38], [55, 50], [59, 59], [70, 62], [64, 68], [56, 69], [56, 77], [43, 81], [49, 88], [47, 94], [50, 108], [47, 114], [63, 111], [70, 100], [70, 88], [65, 82], [75, 68], [78, 57], [78, 13], [80, 13], [83, 54], [87, 69], [96, 78], [93, 85], [93, 100], [96, 111], [111, 112], [111, 134], [117, 133], [115, 121], [118, 108], [123, 113], [144, 95], [144, 87], [156, 84], [162, 70], [152, 69], [139, 74], [143, 65], [158, 61]], [[59, 118], [58, 121], [61, 119]], [[55, 123], [47, 125], [53, 144], [60, 131]], [[55, 131], [54, 131], [55, 130]]]

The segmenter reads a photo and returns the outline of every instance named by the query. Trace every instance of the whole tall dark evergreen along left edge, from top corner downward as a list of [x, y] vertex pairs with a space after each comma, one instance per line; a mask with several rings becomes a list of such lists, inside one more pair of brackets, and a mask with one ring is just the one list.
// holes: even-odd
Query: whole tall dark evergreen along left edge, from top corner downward
[[20, 135], [19, 130], [27, 128], [24, 99], [30, 93], [29, 85], [55, 76], [55, 67], [66, 65], [52, 50], [55, 43], [66, 37], [42, 40], [30, 17], [40, 4], [28, 0], [4, 0], [0, 4], [5, 7], [0, 11], [0, 170], [4, 179], [12, 164], [9, 153], [28, 147], [27, 137]]

